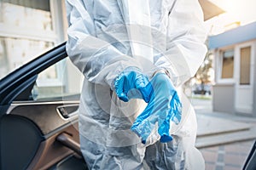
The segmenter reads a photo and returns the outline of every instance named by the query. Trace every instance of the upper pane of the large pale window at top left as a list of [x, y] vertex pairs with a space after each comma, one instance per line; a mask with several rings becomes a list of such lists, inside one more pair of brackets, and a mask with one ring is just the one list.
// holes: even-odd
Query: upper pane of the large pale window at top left
[[[19, 3], [22, 2], [22, 3]], [[49, 11], [49, 0], [38, 3], [30, 1], [3, 1], [0, 4], [1, 18], [4, 28], [9, 31], [52, 31], [52, 18]], [[16, 29], [15, 29], [16, 28]]]

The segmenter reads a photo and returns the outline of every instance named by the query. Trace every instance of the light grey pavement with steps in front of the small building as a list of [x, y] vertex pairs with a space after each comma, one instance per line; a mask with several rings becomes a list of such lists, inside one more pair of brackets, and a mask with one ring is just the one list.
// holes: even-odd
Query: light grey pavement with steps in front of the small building
[[198, 123], [195, 146], [207, 170], [238, 170], [256, 140], [256, 118], [212, 111], [211, 99], [190, 99]]

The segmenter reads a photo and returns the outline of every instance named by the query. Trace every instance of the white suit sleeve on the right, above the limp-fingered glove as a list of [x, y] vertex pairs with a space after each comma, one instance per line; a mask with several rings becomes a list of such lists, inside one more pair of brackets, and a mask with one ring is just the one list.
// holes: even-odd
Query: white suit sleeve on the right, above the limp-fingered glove
[[177, 0], [169, 11], [166, 52], [155, 61], [179, 86], [193, 77], [207, 53], [203, 13], [197, 0]]

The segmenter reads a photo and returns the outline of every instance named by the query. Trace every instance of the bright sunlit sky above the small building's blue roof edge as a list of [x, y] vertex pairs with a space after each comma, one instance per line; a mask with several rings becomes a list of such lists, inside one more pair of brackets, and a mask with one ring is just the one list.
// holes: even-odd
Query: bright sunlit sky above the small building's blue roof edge
[[[218, 34], [256, 21], [256, 0], [210, 0], [226, 13], [207, 20], [209, 34]], [[239, 23], [239, 25], [238, 25]]]

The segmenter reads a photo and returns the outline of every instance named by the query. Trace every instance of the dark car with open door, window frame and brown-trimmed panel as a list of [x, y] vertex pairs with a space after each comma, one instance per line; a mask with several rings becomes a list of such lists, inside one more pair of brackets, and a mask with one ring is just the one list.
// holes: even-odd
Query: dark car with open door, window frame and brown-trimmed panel
[[[0, 80], [0, 169], [88, 169], [79, 146], [79, 92], [68, 94], [62, 87], [55, 95], [46, 86], [49, 95], [44, 96], [38, 86], [44, 71], [68, 59], [65, 46]], [[59, 77], [67, 75], [65, 69], [60, 72]], [[243, 169], [256, 169], [255, 148], [256, 143]]]

